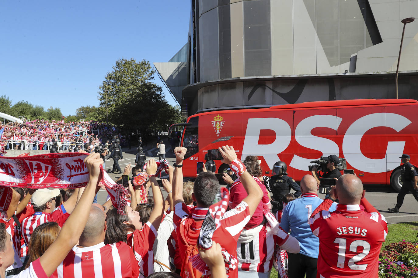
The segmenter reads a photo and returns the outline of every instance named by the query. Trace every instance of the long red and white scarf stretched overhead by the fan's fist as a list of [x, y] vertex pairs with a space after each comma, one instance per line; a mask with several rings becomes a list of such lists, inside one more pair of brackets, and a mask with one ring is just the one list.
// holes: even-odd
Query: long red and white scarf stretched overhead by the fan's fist
[[[84, 158], [87, 153], [51, 153], [25, 157], [0, 157], [0, 186], [26, 188], [79, 188], [87, 185], [89, 171]], [[117, 185], [100, 167], [102, 180], [120, 214], [129, 201], [128, 191]]]

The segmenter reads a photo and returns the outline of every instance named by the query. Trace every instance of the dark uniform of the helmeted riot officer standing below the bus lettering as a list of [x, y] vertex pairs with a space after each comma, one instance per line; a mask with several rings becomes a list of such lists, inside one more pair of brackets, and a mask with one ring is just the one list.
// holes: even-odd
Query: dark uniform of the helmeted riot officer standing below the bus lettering
[[283, 209], [282, 198], [284, 195], [290, 193], [291, 188], [296, 191], [293, 194], [295, 198], [298, 198], [302, 194], [301, 186], [293, 178], [289, 177], [287, 173], [281, 176], [275, 175], [271, 177], [268, 183], [273, 193], [273, 199], [275, 200], [275, 202], [272, 202], [273, 213]]

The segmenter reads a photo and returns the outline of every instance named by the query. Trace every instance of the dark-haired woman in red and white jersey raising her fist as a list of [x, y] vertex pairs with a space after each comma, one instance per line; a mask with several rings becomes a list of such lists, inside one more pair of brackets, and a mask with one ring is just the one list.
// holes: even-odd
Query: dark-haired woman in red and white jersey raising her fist
[[[139, 213], [128, 206], [124, 215], [117, 213], [114, 208], [107, 213], [106, 218], [108, 229], [105, 242], [126, 242], [135, 251], [135, 258], [140, 266], [140, 277], [146, 277], [153, 272], [153, 244], [165, 207], [163, 205], [163, 195], [155, 179], [156, 171], [157, 163], [153, 159], [149, 160], [146, 172], [150, 179], [155, 204], [145, 225], [142, 224]], [[136, 197], [131, 195], [131, 201], [132, 198]]]

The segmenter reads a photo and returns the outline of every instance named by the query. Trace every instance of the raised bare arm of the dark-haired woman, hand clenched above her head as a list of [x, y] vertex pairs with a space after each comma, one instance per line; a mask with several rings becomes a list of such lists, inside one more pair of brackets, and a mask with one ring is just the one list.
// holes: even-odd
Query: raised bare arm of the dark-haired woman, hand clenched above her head
[[160, 186], [158, 186], [157, 180], [155, 179], [155, 172], [157, 172], [157, 163], [155, 160], [150, 159], [147, 163], [147, 174], [150, 178], [151, 182], [151, 189], [153, 191], [153, 198], [154, 198], [154, 209], [150, 214], [150, 218], [148, 221], [154, 226], [155, 230], [158, 230], [160, 227], [161, 219], [163, 218], [164, 214], [164, 201], [163, 201], [163, 193], [161, 192]]

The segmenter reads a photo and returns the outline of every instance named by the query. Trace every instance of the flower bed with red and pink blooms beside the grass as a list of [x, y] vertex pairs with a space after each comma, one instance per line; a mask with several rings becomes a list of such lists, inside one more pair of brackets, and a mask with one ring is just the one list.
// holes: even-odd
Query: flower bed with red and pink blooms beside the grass
[[390, 243], [379, 255], [379, 277], [418, 277], [418, 242]]

